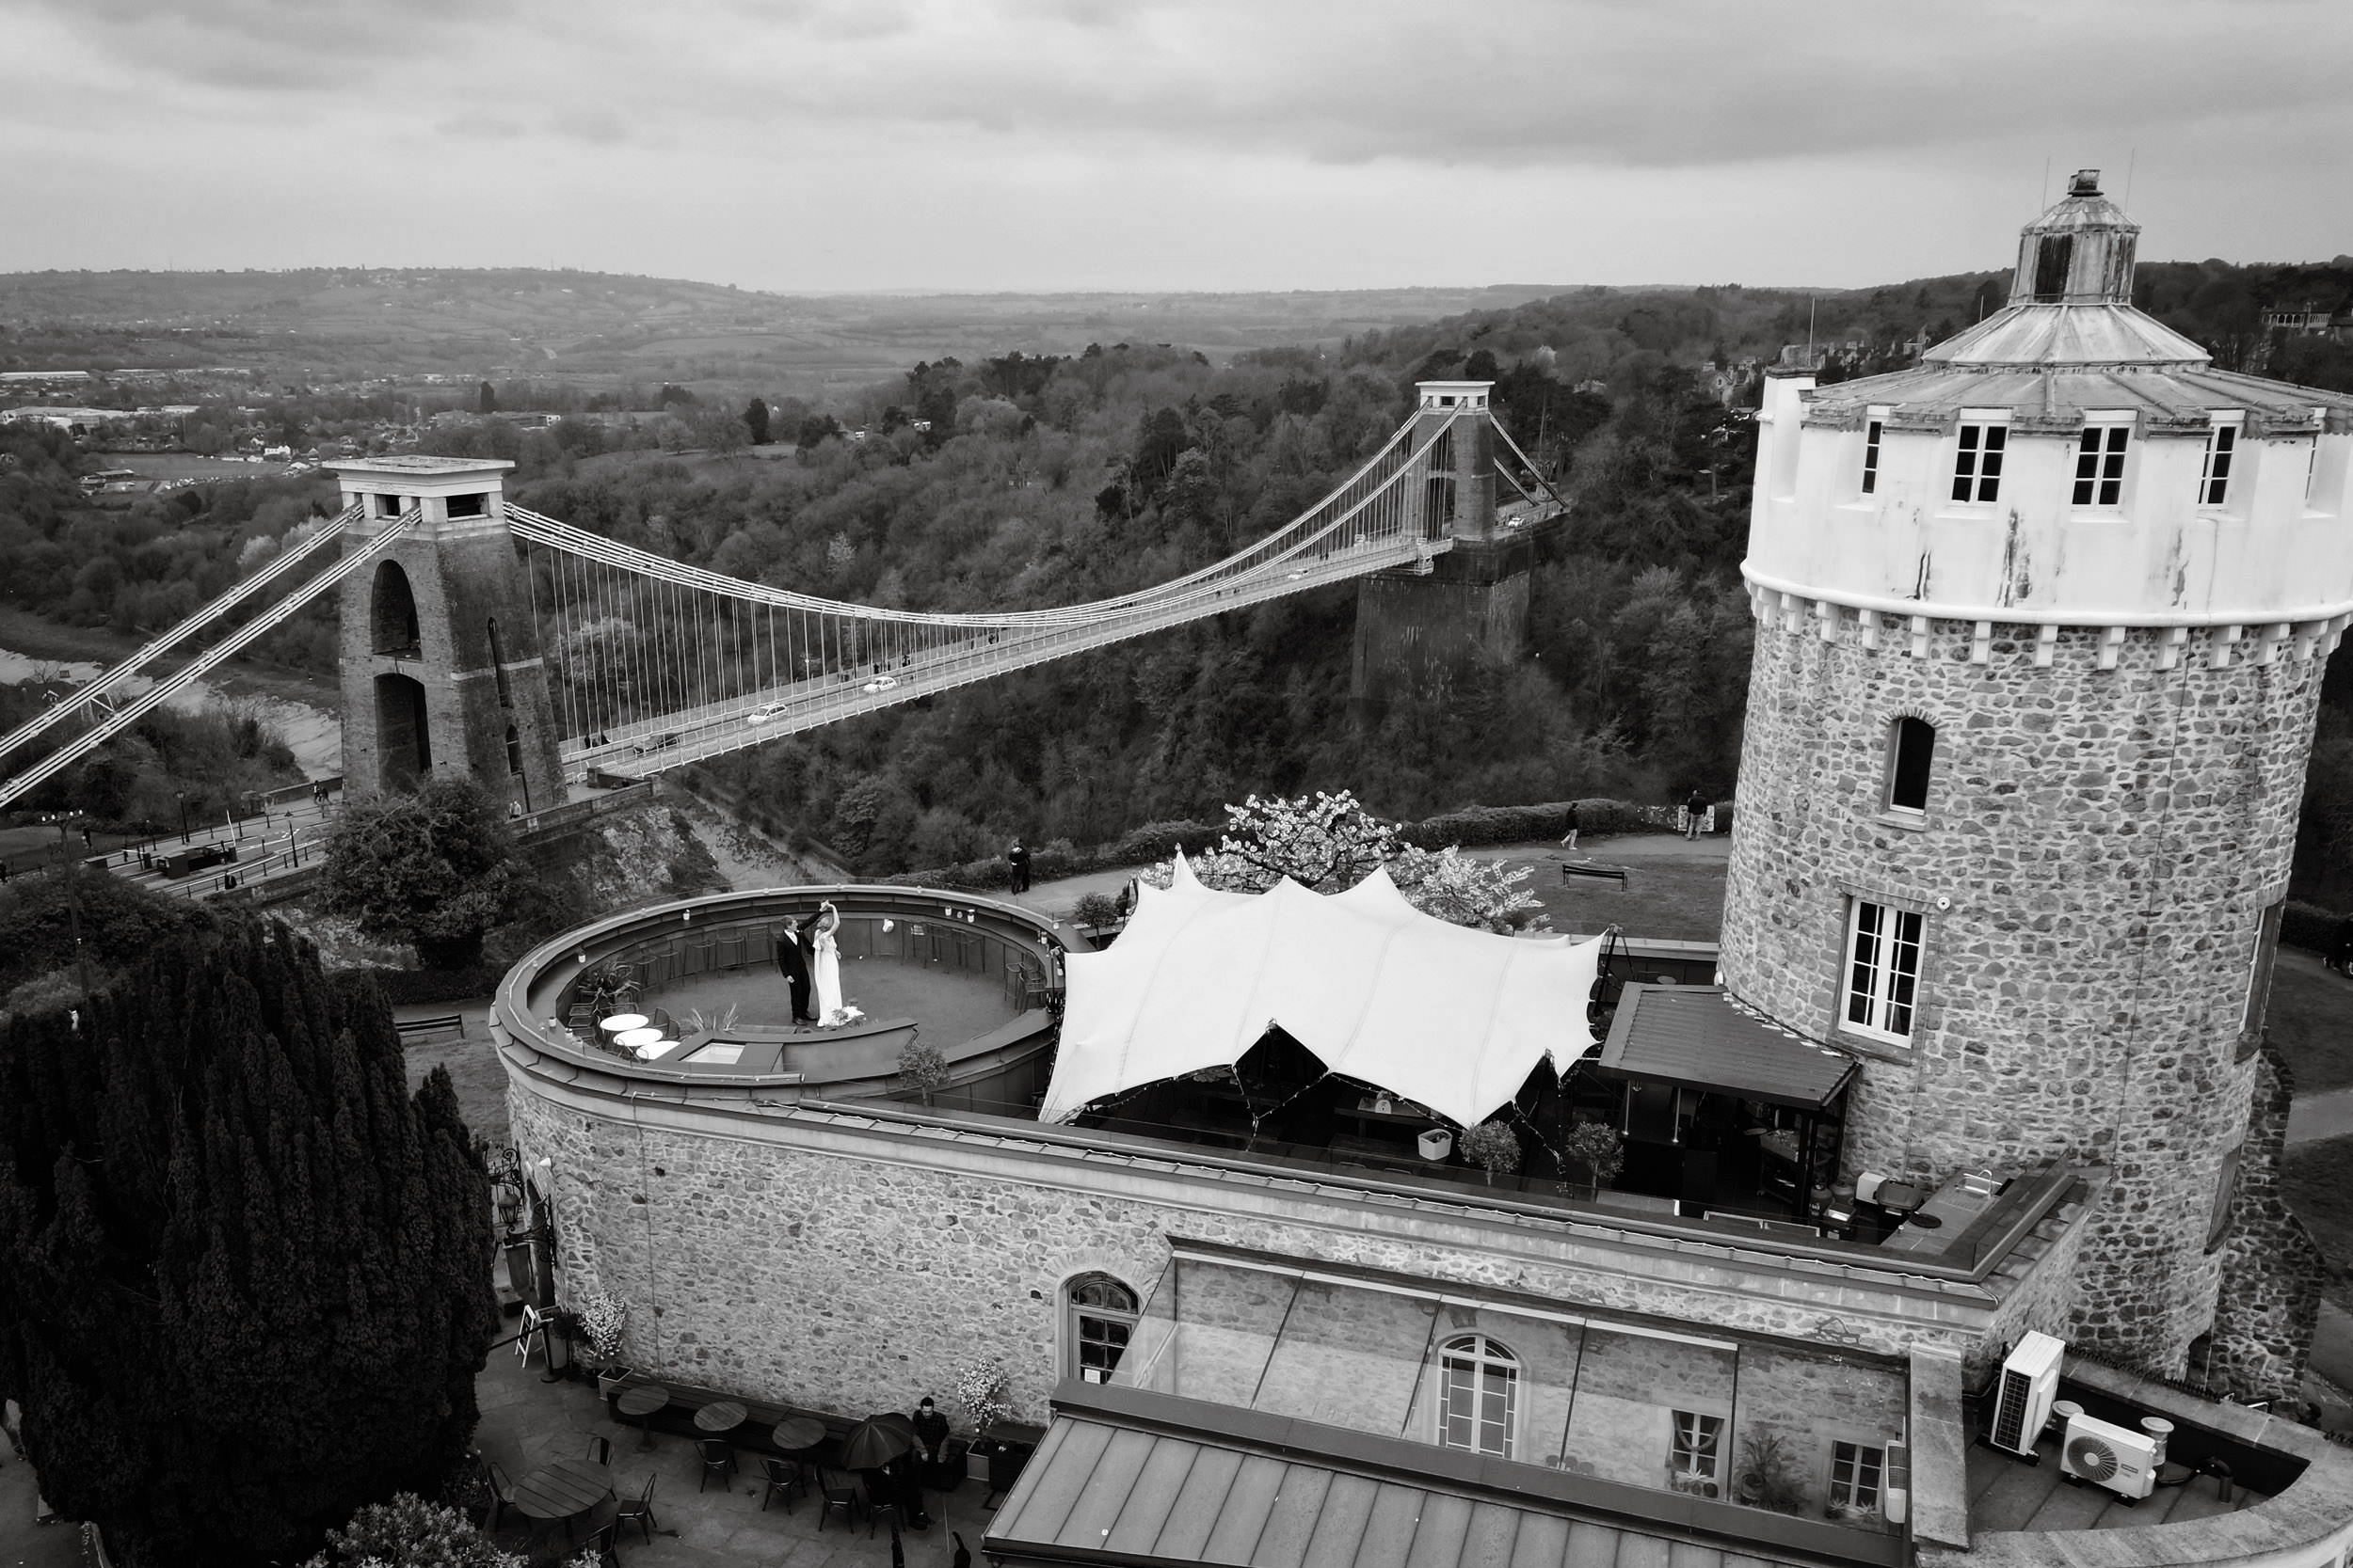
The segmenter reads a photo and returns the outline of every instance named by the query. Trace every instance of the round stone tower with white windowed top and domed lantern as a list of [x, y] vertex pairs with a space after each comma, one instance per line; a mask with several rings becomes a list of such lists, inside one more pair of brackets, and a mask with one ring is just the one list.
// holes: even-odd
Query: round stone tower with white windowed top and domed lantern
[[1861, 1058], [1847, 1178], [2101, 1168], [2021, 1328], [2292, 1389], [2313, 1284], [2249, 1098], [2353, 400], [2214, 371], [2132, 306], [2137, 235], [2082, 172], [1915, 369], [1769, 376], [1722, 980]]

